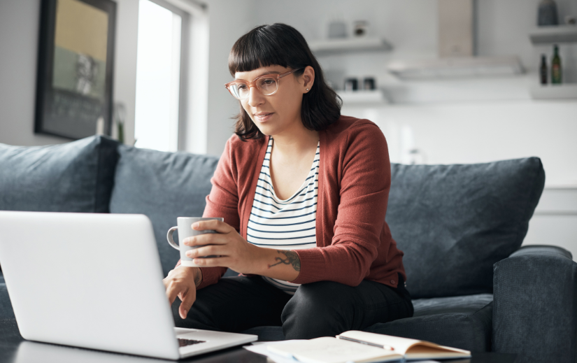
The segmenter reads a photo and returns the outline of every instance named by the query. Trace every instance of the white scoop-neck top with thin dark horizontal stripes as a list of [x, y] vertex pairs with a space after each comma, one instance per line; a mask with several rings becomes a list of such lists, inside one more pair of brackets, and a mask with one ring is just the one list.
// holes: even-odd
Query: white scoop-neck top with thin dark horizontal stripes
[[[318, 199], [320, 141], [311, 171], [292, 197], [279, 199], [271, 180], [270, 162], [273, 138], [269, 138], [260, 169], [255, 201], [248, 218], [246, 237], [249, 243], [276, 250], [301, 250], [316, 247], [315, 222]], [[294, 294], [298, 284], [262, 276], [287, 294]]]

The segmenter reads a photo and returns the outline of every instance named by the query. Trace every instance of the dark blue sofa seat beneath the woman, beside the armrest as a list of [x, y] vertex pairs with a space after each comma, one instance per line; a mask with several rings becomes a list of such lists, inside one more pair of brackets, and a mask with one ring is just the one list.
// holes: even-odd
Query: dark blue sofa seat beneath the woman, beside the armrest
[[[412, 318], [377, 323], [366, 332], [432, 341], [471, 351], [491, 350], [492, 294], [415, 299]], [[259, 341], [285, 339], [282, 327], [255, 327]]]

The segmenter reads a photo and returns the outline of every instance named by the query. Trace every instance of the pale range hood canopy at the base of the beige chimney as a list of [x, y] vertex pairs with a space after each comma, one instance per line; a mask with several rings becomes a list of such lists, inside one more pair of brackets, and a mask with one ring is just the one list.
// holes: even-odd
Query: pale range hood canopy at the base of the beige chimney
[[399, 78], [466, 78], [523, 73], [518, 56], [455, 57], [392, 62], [387, 70]]

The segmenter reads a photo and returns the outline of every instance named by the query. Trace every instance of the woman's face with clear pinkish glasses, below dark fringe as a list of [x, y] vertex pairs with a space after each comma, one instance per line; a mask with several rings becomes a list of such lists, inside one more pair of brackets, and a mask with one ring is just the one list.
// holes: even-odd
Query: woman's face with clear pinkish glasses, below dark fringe
[[[292, 71], [283, 66], [266, 66], [248, 72], [236, 72], [236, 80], [252, 82], [257, 77], [267, 74], [281, 74]], [[303, 95], [311, 90], [315, 79], [313, 67], [307, 66], [298, 78], [289, 74], [278, 80], [278, 91], [264, 96], [257, 87], [250, 87], [247, 98], [241, 100], [246, 113], [265, 135], [276, 135], [294, 127], [304, 128], [301, 121]], [[308, 88], [308, 90], [307, 90]]]

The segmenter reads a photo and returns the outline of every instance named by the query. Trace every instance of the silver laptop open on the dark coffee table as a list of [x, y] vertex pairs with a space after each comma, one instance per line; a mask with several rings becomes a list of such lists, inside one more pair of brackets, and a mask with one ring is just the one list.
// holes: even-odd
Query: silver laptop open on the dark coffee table
[[30, 341], [178, 360], [257, 340], [174, 326], [145, 215], [0, 211], [0, 265]]

